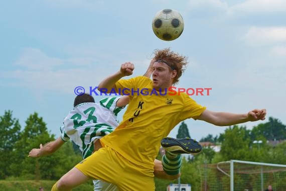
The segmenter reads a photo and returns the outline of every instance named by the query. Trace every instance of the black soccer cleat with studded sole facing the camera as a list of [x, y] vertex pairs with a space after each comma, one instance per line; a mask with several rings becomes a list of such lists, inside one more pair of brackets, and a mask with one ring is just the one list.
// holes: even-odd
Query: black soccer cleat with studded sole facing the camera
[[175, 139], [171, 137], [165, 137], [161, 140], [161, 145], [166, 151], [183, 154], [183, 153], [198, 153], [202, 151], [202, 145], [194, 139], [189, 137], [185, 139]]

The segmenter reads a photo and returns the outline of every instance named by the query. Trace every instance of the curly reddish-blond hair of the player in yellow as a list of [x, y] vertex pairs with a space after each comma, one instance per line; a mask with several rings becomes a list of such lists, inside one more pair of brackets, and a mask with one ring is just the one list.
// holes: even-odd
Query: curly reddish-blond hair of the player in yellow
[[177, 75], [173, 80], [173, 84], [178, 83], [179, 78], [187, 68], [188, 57], [175, 53], [174, 51], [170, 50], [170, 48], [165, 48], [163, 50], [156, 49], [153, 53], [155, 55], [155, 60], [161, 60], [165, 62], [168, 66], [170, 66], [170, 70], [174, 69], [177, 71]]

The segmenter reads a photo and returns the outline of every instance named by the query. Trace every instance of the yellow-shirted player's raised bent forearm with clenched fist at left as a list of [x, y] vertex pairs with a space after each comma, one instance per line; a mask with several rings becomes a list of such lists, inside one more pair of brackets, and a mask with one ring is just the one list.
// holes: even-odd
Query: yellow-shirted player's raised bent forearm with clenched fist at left
[[131, 75], [133, 73], [134, 65], [131, 62], [125, 62], [124, 64], [121, 64], [120, 70], [107, 78], [103, 79], [99, 85], [98, 90], [100, 89], [107, 89], [106, 93], [109, 93], [112, 88], [114, 88], [114, 85], [116, 81], [118, 81], [121, 77]]

